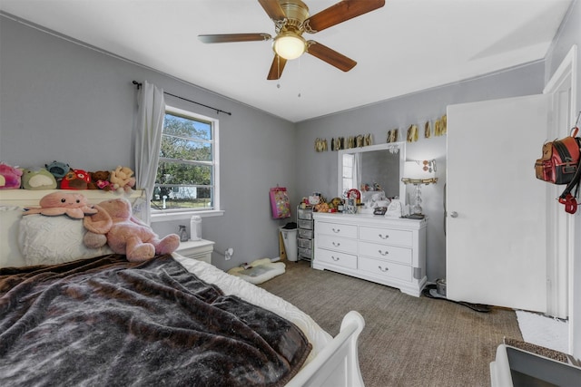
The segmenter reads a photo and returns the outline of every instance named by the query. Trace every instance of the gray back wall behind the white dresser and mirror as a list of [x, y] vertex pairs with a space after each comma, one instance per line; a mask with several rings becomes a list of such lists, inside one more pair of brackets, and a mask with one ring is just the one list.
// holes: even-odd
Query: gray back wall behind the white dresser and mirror
[[[316, 138], [330, 139], [372, 133], [374, 143], [380, 143], [386, 141], [389, 130], [399, 128], [400, 140], [405, 140], [409, 125], [419, 124], [421, 128], [419, 140], [407, 145], [406, 156], [409, 160], [437, 160], [438, 184], [422, 188], [422, 207], [429, 218], [428, 279], [445, 277], [446, 237], [443, 203], [446, 185], [446, 136], [432, 135], [430, 139], [424, 139], [423, 123], [430, 120], [433, 125], [436, 118], [446, 113], [448, 104], [540, 93], [543, 91], [543, 78], [544, 63], [532, 63], [477, 80], [458, 82], [360, 109], [300, 122], [297, 124], [296, 190], [303, 195], [313, 190], [330, 198], [336, 195], [337, 174], [334, 171], [338, 163], [337, 152], [315, 152], [312, 144]], [[490, 157], [495, 157], [492, 151]], [[466, 189], [469, 193], [469, 187]], [[409, 195], [411, 190], [412, 188], [408, 188]]]

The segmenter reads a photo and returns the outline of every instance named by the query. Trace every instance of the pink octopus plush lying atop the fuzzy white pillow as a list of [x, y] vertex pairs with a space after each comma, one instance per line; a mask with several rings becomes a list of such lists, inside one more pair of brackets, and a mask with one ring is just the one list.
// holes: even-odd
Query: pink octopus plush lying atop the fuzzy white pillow
[[97, 209], [87, 203], [81, 194], [53, 192], [44, 195], [38, 203], [40, 208], [25, 208], [23, 215], [41, 214], [47, 217], [66, 215], [73, 219], [83, 219], [85, 215], [97, 213]]

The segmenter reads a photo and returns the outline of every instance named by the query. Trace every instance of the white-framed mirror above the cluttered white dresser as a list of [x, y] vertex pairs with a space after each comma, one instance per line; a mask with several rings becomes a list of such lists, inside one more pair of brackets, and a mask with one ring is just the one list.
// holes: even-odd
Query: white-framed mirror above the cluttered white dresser
[[[401, 182], [406, 160], [406, 143], [390, 142], [349, 150], [339, 150], [338, 194], [342, 198], [349, 189], [369, 190], [362, 195], [372, 194], [377, 186], [387, 198], [399, 197], [405, 204], [406, 185]], [[377, 185], [374, 187], [374, 185]], [[365, 202], [364, 198], [361, 198]]]

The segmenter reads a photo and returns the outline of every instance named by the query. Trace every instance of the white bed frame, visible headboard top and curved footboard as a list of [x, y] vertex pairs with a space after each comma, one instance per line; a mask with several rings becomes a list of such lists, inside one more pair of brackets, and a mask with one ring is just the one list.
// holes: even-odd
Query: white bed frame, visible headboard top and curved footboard
[[[18, 207], [38, 206], [40, 198], [58, 189], [0, 189], [0, 205]], [[131, 194], [116, 194], [99, 189], [84, 189], [67, 192], [82, 193], [90, 204], [97, 204], [108, 198], [129, 198], [139, 207], [141, 202], [147, 205], [143, 191], [135, 190]], [[139, 214], [134, 214], [141, 218]], [[363, 378], [359, 369], [358, 340], [365, 326], [363, 316], [351, 311], [345, 314], [340, 326], [340, 333], [328, 343], [317, 356], [305, 365], [299, 373], [287, 383], [289, 387], [362, 387]]]

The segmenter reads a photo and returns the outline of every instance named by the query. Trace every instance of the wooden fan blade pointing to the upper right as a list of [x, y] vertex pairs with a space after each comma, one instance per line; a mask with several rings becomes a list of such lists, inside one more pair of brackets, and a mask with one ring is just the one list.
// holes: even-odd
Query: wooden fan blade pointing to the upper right
[[308, 33], [313, 34], [353, 17], [367, 14], [383, 5], [385, 5], [385, 0], [343, 0], [323, 9], [319, 14], [310, 16], [305, 20], [307, 25], [305, 29]]

